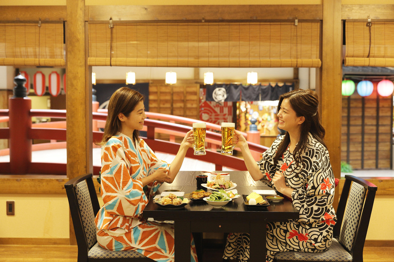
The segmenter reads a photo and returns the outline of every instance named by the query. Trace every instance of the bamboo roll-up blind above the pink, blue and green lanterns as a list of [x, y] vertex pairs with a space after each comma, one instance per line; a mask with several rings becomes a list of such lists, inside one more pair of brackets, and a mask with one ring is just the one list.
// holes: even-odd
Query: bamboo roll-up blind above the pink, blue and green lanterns
[[394, 22], [346, 21], [345, 65], [394, 67]]

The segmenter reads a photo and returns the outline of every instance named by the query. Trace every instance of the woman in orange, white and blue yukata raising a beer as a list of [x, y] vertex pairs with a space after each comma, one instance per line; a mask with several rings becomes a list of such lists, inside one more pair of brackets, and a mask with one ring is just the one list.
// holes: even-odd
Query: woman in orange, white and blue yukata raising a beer
[[[183, 139], [171, 165], [158, 159], [139, 138], [144, 126], [144, 97], [129, 88], [116, 90], [108, 104], [101, 142], [101, 195], [96, 215], [97, 242], [108, 250], [135, 250], [156, 261], [174, 261], [174, 227], [146, 221], [142, 213], [163, 182], [172, 183], [193, 141]], [[190, 253], [197, 261], [191, 236]]]

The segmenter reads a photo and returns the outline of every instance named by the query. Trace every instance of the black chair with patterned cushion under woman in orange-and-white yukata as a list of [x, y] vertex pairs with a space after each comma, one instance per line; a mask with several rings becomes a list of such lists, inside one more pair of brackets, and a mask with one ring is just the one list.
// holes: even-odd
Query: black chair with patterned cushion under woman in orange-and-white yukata
[[100, 205], [92, 177], [91, 173], [84, 174], [64, 185], [78, 246], [78, 262], [154, 261], [136, 251], [109, 251], [99, 246], [94, 218], [99, 212]]

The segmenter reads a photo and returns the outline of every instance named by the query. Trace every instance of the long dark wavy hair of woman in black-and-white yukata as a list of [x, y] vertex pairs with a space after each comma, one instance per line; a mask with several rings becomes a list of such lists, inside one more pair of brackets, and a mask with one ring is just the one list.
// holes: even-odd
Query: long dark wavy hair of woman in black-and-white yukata
[[[301, 124], [300, 141], [298, 141], [298, 144], [295, 146], [293, 151], [294, 160], [297, 162], [297, 165], [299, 165], [302, 162], [301, 154], [308, 143], [308, 133], [326, 147], [326, 144], [324, 143], [326, 131], [320, 123], [318, 111], [319, 98], [316, 92], [312, 90], [298, 89], [281, 95], [279, 97], [277, 112], [279, 112], [283, 99], [285, 98], [288, 99], [291, 108], [295, 111], [297, 117], [303, 116], [305, 118], [305, 121]], [[283, 153], [286, 151], [289, 143], [290, 136], [289, 133], [286, 132], [286, 135], [273, 158], [274, 163], [278, 163], [278, 159], [283, 156]]]

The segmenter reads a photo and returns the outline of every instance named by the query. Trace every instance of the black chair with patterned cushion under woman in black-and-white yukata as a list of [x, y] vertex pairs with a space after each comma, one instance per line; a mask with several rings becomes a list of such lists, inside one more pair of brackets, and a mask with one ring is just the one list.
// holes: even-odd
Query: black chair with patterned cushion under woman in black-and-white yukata
[[345, 176], [337, 209], [331, 247], [321, 253], [279, 252], [277, 262], [362, 262], [365, 236], [377, 186], [354, 176]]

